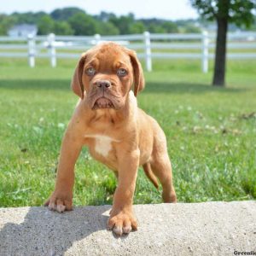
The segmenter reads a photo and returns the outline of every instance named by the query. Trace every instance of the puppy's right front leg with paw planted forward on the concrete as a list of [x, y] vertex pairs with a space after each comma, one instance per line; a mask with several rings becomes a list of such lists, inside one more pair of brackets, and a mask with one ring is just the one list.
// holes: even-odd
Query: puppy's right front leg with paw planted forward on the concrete
[[136, 186], [139, 150], [117, 150], [119, 161], [119, 183], [113, 196], [113, 208], [108, 218], [108, 229], [121, 236], [137, 230], [137, 222], [132, 212], [132, 201]]

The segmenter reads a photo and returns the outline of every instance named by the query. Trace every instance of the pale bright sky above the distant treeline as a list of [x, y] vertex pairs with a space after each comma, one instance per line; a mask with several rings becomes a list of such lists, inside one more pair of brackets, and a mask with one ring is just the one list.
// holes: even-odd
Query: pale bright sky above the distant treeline
[[197, 18], [196, 10], [190, 6], [189, 0], [0, 0], [0, 13], [45, 11], [57, 8], [78, 7], [90, 15], [98, 15], [101, 11], [113, 12], [115, 15], [133, 13], [139, 18], [160, 18], [180, 20]]

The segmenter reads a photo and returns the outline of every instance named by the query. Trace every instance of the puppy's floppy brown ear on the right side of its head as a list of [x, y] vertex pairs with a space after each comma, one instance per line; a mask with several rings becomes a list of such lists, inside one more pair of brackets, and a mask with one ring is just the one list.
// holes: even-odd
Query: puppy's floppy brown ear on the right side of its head
[[130, 55], [131, 65], [133, 68], [134, 95], [137, 96], [138, 92], [143, 90], [145, 87], [143, 67], [134, 50], [129, 49], [128, 55]]

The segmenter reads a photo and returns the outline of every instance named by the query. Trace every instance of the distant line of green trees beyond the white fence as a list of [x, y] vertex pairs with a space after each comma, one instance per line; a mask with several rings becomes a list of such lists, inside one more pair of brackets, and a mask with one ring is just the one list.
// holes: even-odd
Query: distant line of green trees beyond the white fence
[[[171, 17], [170, 17], [171, 18]], [[9, 28], [18, 24], [38, 26], [38, 34], [54, 32], [57, 35], [118, 35], [136, 34], [144, 31], [153, 33], [201, 32], [195, 20], [135, 19], [133, 14], [117, 16], [102, 12], [89, 15], [79, 8], [55, 9], [50, 14], [13, 13], [0, 14], [0, 35], [7, 35]]]

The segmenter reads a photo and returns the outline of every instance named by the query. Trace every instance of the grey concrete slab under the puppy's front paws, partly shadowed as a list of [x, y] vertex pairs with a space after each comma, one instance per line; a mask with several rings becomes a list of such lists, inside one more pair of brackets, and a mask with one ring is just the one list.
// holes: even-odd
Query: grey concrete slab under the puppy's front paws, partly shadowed
[[[106, 230], [109, 206], [0, 208], [0, 255], [235, 255], [256, 252], [256, 201], [137, 205], [139, 229]], [[238, 255], [238, 254], [237, 254]]]

